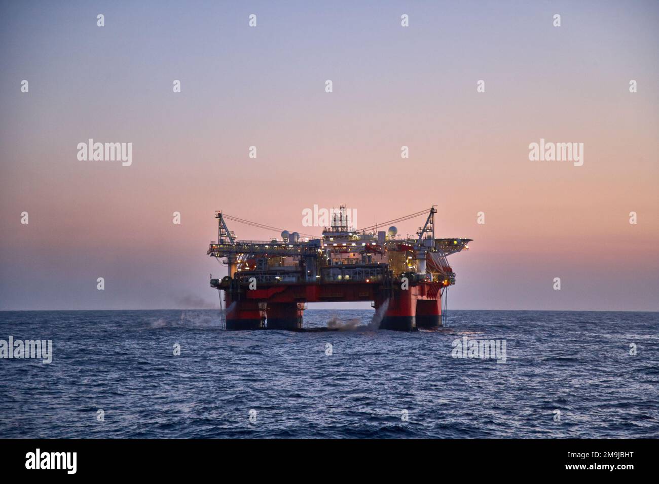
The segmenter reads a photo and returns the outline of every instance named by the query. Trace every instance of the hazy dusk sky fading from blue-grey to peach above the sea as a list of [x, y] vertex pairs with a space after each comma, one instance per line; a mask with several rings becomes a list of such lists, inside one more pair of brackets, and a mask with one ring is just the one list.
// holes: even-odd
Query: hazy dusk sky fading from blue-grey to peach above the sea
[[[0, 309], [214, 307], [215, 210], [320, 234], [302, 210], [343, 203], [473, 238], [449, 309], [657, 311], [658, 25], [656, 1], [2, 2]], [[88, 138], [132, 165], [78, 161]], [[583, 166], [529, 161], [540, 138]]]

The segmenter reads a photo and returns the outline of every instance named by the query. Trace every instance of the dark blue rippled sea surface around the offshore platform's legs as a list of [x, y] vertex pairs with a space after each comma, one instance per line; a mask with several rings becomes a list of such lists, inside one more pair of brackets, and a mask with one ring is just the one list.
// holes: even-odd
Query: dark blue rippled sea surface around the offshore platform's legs
[[[304, 325], [372, 315], [307, 310]], [[453, 358], [465, 335], [505, 340], [505, 364]], [[53, 362], [0, 360], [5, 438], [659, 437], [659, 313], [451, 311], [442, 331], [289, 333], [223, 331], [218, 311], [0, 312], [9, 336], [53, 340]]]

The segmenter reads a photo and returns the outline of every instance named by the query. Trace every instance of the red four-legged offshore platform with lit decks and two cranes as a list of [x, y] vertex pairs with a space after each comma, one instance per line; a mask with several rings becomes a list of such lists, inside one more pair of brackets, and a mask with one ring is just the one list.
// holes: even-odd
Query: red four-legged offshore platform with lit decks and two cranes
[[[378, 231], [379, 226], [426, 213], [416, 237], [401, 237], [393, 226]], [[274, 227], [215, 213], [217, 242], [211, 242], [208, 255], [223, 259], [229, 275], [211, 279], [210, 284], [224, 291], [226, 329], [300, 331], [307, 302], [347, 301], [372, 302], [382, 317], [379, 329], [442, 326], [447, 290], [455, 284], [446, 257], [469, 249], [471, 239], [435, 238], [435, 213], [432, 207], [354, 230], [341, 206], [320, 238], [284, 230], [281, 239], [266, 241], [237, 240], [225, 219]]]

